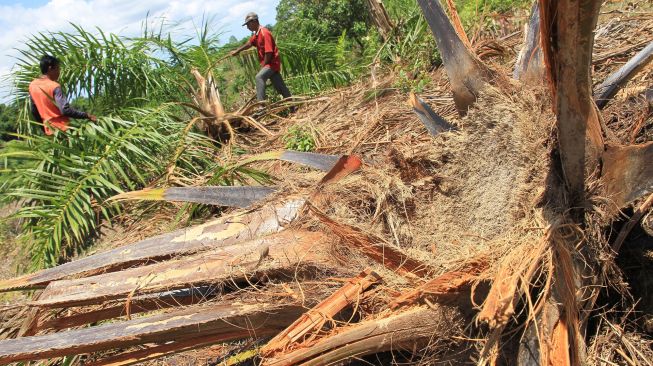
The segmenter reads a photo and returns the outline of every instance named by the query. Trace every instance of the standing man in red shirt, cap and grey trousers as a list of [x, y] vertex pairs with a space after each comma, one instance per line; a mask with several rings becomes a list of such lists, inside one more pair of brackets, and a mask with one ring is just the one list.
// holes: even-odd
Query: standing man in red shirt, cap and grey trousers
[[265, 100], [265, 83], [268, 79], [272, 81], [274, 88], [284, 98], [290, 97], [290, 91], [281, 78], [281, 61], [279, 60], [279, 49], [274, 42], [274, 37], [270, 31], [261, 26], [258, 22], [258, 15], [256, 13], [248, 13], [245, 17], [247, 29], [254, 34], [238, 49], [231, 52], [231, 56], [235, 56], [240, 52], [254, 46], [258, 51], [258, 59], [261, 63], [261, 71], [256, 74], [256, 99], [258, 101]]

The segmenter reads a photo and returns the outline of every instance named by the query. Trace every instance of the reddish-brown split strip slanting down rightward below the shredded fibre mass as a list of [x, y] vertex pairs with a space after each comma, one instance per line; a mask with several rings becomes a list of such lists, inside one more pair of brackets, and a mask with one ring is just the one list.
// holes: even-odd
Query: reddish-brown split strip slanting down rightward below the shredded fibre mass
[[365, 234], [355, 227], [338, 223], [314, 206], [309, 205], [308, 208], [322, 223], [333, 230], [348, 245], [351, 245], [361, 254], [372, 258], [385, 267], [409, 277], [425, 276], [432, 271], [426, 264], [411, 258], [399, 248], [385, 243], [380, 238]]

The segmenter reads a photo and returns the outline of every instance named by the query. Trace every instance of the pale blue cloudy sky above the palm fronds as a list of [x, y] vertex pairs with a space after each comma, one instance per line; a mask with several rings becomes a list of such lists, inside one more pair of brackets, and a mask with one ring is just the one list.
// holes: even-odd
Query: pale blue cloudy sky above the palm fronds
[[193, 35], [194, 25], [209, 17], [226, 41], [232, 35], [240, 39], [249, 34], [241, 25], [250, 11], [259, 14], [261, 23], [274, 23], [278, 4], [279, 0], [0, 0], [0, 102], [10, 99], [11, 90], [3, 80], [14, 65], [15, 49], [30, 34], [67, 31], [73, 22], [85, 29], [99, 27], [134, 36], [149, 13], [149, 19], [178, 24], [179, 33], [187, 35]]

